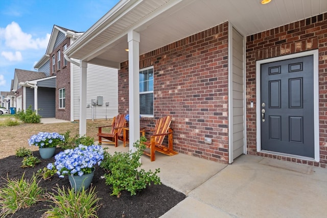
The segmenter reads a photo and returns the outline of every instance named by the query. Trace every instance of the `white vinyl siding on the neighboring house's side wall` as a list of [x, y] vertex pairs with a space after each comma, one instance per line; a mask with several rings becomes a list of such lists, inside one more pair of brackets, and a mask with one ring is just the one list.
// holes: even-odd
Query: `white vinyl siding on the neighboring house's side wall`
[[[74, 120], [79, 119], [80, 67], [73, 65], [74, 77]], [[87, 119], [92, 119], [91, 99], [103, 96], [103, 105], [94, 106], [94, 119], [111, 118], [118, 114], [118, 70], [114, 68], [87, 65]], [[109, 102], [109, 106], [106, 106]], [[86, 105], [85, 105], [86, 107]]]

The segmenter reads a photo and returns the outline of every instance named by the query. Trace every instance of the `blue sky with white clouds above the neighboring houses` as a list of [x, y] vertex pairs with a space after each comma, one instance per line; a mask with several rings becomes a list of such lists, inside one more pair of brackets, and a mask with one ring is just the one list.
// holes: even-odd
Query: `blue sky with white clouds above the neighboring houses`
[[34, 70], [54, 25], [85, 32], [119, 0], [0, 0], [0, 91], [15, 68]]

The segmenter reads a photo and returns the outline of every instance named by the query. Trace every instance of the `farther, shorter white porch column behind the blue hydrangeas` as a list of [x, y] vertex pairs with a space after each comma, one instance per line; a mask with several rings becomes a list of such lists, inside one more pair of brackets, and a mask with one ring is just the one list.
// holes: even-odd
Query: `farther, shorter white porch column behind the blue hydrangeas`
[[80, 135], [86, 134], [86, 72], [87, 62], [80, 62]]

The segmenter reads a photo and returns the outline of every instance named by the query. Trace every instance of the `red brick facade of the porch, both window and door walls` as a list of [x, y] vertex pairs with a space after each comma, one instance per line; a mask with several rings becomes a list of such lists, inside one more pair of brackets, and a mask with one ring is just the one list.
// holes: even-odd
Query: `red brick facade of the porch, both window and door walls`
[[[320, 162], [256, 152], [258, 60], [318, 49]], [[154, 118], [171, 115], [174, 149], [228, 163], [228, 23], [140, 56], [140, 69], [154, 68]], [[247, 153], [327, 168], [327, 14], [246, 37]], [[128, 61], [119, 71], [119, 112], [128, 113]], [[204, 143], [212, 138], [212, 144]]]

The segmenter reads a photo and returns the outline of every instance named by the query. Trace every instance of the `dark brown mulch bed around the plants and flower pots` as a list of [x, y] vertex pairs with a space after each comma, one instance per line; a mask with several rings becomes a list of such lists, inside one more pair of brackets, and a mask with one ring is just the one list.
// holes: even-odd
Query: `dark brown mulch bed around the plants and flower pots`
[[[58, 154], [60, 151], [56, 151]], [[40, 168], [45, 167], [48, 163], [54, 162], [54, 158], [43, 160], [39, 156], [38, 151], [33, 152], [33, 155], [38, 157], [42, 162], [36, 167], [21, 168], [22, 158], [9, 156], [0, 159], [0, 187], [6, 183], [6, 178], [21, 178], [25, 172], [25, 177], [30, 179], [33, 173]], [[146, 189], [140, 191], [135, 196], [130, 196], [130, 193], [123, 191], [120, 198], [110, 196], [110, 186], [105, 184], [105, 179], [101, 179], [104, 175], [102, 168], [97, 167], [92, 185], [96, 186], [97, 197], [101, 198], [99, 203], [102, 205], [98, 210], [100, 218], [107, 217], [159, 217], [180, 201], [185, 198], [185, 195], [166, 185], [151, 185]], [[51, 180], [41, 180], [40, 186], [45, 188], [48, 192], [52, 189], [65, 186], [70, 187], [67, 176], [59, 178], [57, 175], [53, 176]], [[18, 210], [13, 216], [9, 217], [41, 217], [42, 214], [50, 207], [50, 202], [42, 201], [30, 208]]]

